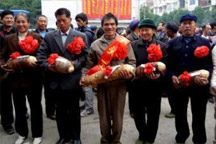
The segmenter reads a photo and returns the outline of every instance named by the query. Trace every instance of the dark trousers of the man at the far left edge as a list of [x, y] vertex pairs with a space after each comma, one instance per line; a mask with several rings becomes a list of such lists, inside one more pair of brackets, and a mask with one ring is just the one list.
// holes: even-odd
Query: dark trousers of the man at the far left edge
[[4, 128], [9, 128], [14, 122], [12, 94], [7, 78], [2, 78], [0, 82], [1, 92], [1, 124]]

